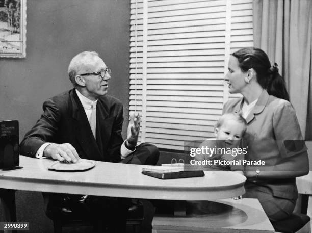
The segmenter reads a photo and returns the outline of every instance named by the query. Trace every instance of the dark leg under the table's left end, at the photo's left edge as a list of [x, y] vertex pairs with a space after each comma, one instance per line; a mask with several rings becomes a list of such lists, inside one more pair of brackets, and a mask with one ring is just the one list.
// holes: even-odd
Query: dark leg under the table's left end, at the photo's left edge
[[[0, 222], [16, 222], [15, 191], [0, 189]], [[16, 233], [16, 230], [4, 230], [5, 233]]]

